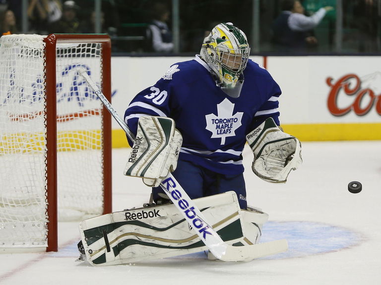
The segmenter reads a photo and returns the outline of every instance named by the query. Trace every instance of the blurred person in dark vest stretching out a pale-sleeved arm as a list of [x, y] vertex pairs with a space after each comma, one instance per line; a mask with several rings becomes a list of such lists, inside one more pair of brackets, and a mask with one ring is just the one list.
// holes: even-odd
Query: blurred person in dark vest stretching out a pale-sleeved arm
[[306, 51], [315, 47], [318, 40], [313, 36], [313, 29], [318, 26], [327, 11], [333, 7], [320, 8], [308, 17], [298, 0], [282, 0], [280, 15], [273, 24], [273, 42], [278, 51]]

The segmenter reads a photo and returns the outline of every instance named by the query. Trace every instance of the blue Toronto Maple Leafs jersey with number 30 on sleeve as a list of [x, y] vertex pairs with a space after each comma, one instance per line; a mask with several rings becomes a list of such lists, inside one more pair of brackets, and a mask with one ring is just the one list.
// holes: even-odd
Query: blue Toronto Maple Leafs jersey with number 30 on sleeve
[[252, 60], [244, 78], [241, 95], [230, 97], [196, 55], [173, 64], [154, 86], [138, 93], [125, 112], [125, 122], [136, 134], [138, 118], [143, 115], [171, 117], [183, 135], [180, 159], [237, 175], [244, 171], [246, 135], [270, 116], [279, 125], [278, 84]]

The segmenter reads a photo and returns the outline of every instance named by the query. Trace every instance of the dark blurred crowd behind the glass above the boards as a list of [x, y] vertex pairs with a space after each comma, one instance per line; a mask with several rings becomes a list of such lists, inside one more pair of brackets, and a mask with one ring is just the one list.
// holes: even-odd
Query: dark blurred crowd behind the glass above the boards
[[[275, 44], [282, 0], [0, 0], [0, 32], [107, 33], [114, 54], [193, 55], [214, 25], [232, 22], [248, 36], [252, 54], [380, 53], [381, 0], [299, 2], [306, 16], [332, 7], [308, 31], [316, 43], [303, 50]], [[152, 47], [155, 29], [162, 49]]]

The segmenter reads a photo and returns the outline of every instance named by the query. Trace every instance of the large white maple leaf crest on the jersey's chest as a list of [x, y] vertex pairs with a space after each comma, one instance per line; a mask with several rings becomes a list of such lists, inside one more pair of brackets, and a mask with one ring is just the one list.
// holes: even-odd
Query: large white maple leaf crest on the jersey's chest
[[221, 138], [221, 144], [225, 144], [227, 137], [235, 136], [235, 131], [241, 127], [243, 112], [233, 115], [234, 104], [225, 98], [217, 104], [217, 116], [206, 115], [206, 130], [212, 132], [211, 138]]

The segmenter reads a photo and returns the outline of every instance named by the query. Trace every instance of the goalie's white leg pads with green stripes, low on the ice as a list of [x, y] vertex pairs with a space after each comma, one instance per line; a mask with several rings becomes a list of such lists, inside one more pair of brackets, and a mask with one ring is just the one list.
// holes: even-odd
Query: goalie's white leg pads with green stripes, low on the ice
[[[259, 242], [268, 215], [250, 208], [241, 210], [235, 192], [193, 201], [227, 244]], [[191, 210], [188, 214], [192, 215]], [[174, 204], [106, 214], [81, 222], [79, 228], [86, 260], [92, 265], [125, 264], [208, 249]]]

